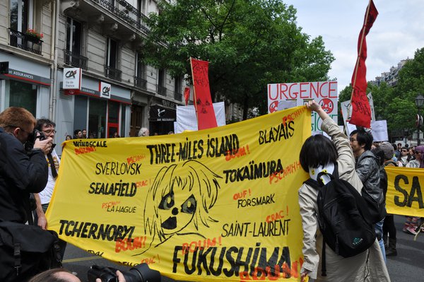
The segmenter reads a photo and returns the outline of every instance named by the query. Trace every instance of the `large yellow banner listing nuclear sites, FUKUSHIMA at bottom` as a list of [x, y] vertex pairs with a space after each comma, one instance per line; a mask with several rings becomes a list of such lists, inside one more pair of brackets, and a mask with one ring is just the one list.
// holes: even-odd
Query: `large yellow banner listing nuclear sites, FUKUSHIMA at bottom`
[[183, 134], [66, 141], [49, 229], [184, 281], [300, 281], [306, 107]]

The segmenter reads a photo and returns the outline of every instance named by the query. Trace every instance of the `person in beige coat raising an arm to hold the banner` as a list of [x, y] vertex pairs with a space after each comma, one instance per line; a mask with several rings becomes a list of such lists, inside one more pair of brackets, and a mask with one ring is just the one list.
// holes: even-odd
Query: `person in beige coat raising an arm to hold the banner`
[[[350, 182], [360, 192], [363, 184], [355, 171], [355, 159], [347, 136], [317, 102], [309, 102], [307, 108], [319, 114], [322, 119], [321, 128], [331, 136], [333, 143], [322, 135], [308, 138], [300, 151], [300, 164], [303, 170], [311, 173], [310, 168], [315, 170], [317, 167], [315, 164], [319, 164], [322, 170], [326, 169], [326, 172], [331, 173], [337, 163], [339, 177]], [[314, 153], [305, 153], [308, 151]], [[326, 276], [319, 273], [323, 237], [317, 221], [317, 194], [317, 189], [308, 184], [302, 184], [299, 189], [303, 227], [302, 252], [305, 259], [300, 270], [302, 281], [305, 281], [306, 276], [317, 281], [356, 282], [364, 281], [365, 276], [368, 281], [390, 281], [377, 240], [367, 251], [348, 258], [338, 256], [331, 248], [326, 247]]]

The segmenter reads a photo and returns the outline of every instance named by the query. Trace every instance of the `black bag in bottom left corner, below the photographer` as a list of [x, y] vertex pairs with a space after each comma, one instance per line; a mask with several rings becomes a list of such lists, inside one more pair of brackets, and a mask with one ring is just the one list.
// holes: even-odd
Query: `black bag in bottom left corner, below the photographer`
[[61, 267], [57, 233], [38, 226], [0, 222], [0, 281], [28, 281]]

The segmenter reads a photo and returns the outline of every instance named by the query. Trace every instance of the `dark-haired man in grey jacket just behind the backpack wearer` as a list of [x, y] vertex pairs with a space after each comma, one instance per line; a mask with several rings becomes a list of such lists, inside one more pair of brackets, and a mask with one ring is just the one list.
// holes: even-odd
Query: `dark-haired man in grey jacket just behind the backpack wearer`
[[[372, 135], [360, 127], [351, 132], [351, 147], [353, 155], [355, 156], [356, 165], [355, 170], [358, 172], [360, 180], [363, 182], [365, 192], [369, 194], [372, 199], [377, 201], [379, 206], [384, 205], [383, 190], [379, 185], [379, 165], [378, 160], [373, 153], [371, 153]], [[375, 234], [379, 240], [379, 245], [382, 249], [384, 261], [386, 259], [383, 235], [384, 218], [375, 223]]]

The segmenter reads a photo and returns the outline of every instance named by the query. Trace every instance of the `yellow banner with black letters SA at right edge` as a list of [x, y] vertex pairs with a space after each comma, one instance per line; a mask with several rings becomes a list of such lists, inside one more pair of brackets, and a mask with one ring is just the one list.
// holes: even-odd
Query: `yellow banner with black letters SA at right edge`
[[387, 172], [387, 213], [404, 216], [424, 217], [422, 168], [386, 167]]

